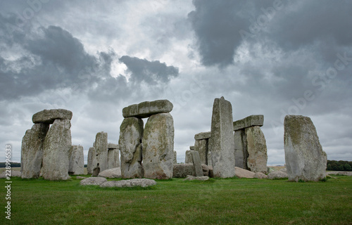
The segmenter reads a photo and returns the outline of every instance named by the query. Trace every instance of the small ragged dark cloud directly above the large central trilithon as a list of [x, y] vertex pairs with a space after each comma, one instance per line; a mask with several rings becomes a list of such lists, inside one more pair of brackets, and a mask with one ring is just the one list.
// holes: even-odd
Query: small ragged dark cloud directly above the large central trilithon
[[178, 68], [168, 66], [159, 60], [149, 61], [130, 56], [122, 56], [119, 60], [125, 63], [127, 70], [132, 72], [130, 81], [134, 83], [142, 81], [147, 84], [167, 83], [179, 74]]

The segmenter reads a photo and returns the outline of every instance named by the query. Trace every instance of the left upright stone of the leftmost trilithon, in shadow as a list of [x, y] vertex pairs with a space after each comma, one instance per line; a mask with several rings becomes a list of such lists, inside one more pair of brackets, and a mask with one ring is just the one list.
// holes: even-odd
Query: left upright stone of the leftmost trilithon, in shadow
[[44, 139], [49, 130], [49, 124], [34, 124], [25, 132], [21, 147], [22, 178], [37, 179], [42, 168]]

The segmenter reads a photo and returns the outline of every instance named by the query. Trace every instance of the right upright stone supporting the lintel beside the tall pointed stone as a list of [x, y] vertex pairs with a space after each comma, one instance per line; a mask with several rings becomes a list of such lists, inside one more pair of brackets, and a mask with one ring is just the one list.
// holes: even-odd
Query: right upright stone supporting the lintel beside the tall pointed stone
[[247, 167], [251, 172], [267, 172], [266, 163], [268, 161], [268, 153], [266, 148], [265, 137], [259, 126], [249, 127], [245, 129], [247, 152]]

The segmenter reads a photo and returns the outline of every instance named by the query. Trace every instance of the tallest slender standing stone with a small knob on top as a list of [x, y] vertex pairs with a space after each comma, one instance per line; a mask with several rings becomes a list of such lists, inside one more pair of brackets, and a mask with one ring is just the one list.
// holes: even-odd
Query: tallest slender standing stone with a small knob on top
[[235, 176], [232, 105], [224, 97], [214, 100], [209, 148], [212, 154], [214, 177]]

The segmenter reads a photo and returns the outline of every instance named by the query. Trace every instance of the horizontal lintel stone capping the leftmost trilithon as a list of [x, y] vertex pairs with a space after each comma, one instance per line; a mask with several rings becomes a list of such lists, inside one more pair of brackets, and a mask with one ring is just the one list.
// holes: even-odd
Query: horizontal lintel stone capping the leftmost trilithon
[[71, 120], [72, 112], [70, 110], [64, 109], [54, 109], [54, 110], [42, 110], [38, 113], [35, 113], [32, 117], [32, 122], [37, 123], [46, 123], [52, 124], [56, 119], [58, 120]]

